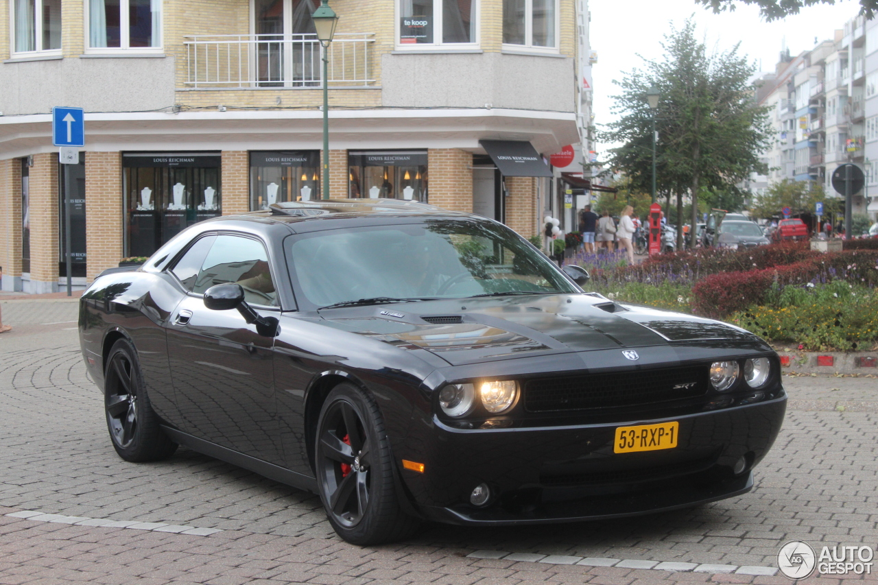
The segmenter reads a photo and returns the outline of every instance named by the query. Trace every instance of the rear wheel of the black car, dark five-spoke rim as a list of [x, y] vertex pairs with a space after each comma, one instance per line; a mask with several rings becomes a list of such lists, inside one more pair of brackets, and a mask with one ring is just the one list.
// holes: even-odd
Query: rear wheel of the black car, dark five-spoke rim
[[156, 461], [176, 451], [159, 427], [149, 403], [137, 354], [131, 343], [119, 339], [112, 346], [104, 372], [104, 412], [112, 446], [126, 461]]

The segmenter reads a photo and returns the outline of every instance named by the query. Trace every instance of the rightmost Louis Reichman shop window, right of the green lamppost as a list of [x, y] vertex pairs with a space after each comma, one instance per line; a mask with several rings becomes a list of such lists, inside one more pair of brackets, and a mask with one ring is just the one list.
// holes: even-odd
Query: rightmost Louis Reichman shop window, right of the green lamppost
[[351, 151], [350, 198], [408, 199], [427, 203], [427, 151]]

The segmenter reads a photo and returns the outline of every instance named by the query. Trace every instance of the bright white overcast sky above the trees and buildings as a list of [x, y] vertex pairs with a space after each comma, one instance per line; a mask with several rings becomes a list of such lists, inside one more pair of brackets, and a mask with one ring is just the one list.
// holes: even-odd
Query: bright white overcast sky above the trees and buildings
[[[598, 53], [592, 68], [594, 82], [594, 122], [600, 125], [614, 119], [610, 113], [612, 96], [618, 93], [613, 80], [624, 72], [643, 68], [644, 60], [661, 57], [660, 43], [671, 31], [694, 14], [696, 33], [709, 49], [728, 50], [741, 43], [740, 54], [755, 61], [757, 69], [773, 71], [786, 43], [792, 55], [810, 50], [817, 41], [833, 38], [833, 31], [854, 18], [860, 4], [841, 0], [834, 5], [819, 4], [783, 20], [766, 23], [756, 6], [738, 4], [735, 11], [714, 14], [694, 0], [589, 0], [592, 13], [589, 27], [591, 48]], [[761, 68], [759, 64], [761, 63]], [[603, 145], [598, 145], [600, 151]]]

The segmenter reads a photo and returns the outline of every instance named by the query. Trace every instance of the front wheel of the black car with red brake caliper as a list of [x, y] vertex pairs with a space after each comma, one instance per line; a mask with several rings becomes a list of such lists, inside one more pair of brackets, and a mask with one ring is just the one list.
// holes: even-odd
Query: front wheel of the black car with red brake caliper
[[390, 444], [371, 395], [335, 386], [320, 410], [315, 443], [320, 499], [339, 536], [375, 545], [417, 528], [399, 507]]

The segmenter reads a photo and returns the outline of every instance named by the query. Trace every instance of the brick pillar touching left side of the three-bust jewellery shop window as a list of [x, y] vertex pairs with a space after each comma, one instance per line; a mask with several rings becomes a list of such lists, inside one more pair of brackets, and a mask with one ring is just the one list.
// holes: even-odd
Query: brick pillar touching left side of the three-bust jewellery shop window
[[123, 256], [122, 155], [85, 153], [85, 249], [89, 282]]

